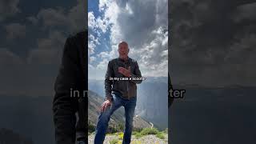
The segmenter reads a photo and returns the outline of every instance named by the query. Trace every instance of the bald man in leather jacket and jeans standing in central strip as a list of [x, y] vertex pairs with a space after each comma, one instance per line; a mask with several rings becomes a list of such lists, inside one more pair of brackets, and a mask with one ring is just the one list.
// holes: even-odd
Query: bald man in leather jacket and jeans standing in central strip
[[[119, 58], [115, 58], [108, 63], [105, 77], [106, 101], [102, 103], [101, 114], [98, 117], [94, 138], [95, 144], [103, 143], [110, 116], [121, 106], [125, 108], [126, 117], [122, 143], [130, 143], [137, 101], [136, 84], [142, 82], [142, 74], [138, 63], [128, 57], [129, 50], [127, 42], [120, 42], [118, 44]], [[114, 97], [111, 94], [112, 92]]]

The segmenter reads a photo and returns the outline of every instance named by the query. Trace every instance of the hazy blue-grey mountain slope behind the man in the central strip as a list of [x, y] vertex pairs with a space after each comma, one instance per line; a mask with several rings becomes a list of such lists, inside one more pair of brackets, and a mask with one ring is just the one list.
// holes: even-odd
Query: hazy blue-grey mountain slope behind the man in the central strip
[[[137, 106], [135, 114], [148, 122], [153, 122], [154, 127], [159, 130], [166, 130], [168, 127], [168, 78], [166, 77], [147, 77], [138, 86]], [[89, 80], [89, 89], [97, 91], [103, 96], [104, 81]]]

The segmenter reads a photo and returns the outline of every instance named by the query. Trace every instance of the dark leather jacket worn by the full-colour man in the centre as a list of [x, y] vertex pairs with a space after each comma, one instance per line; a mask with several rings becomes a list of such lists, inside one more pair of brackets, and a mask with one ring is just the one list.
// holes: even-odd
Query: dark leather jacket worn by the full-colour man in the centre
[[[128, 78], [128, 80], [125, 80], [124, 78], [126, 77], [118, 72], [118, 67], [120, 66], [126, 69], [130, 67], [131, 77]], [[139, 70], [138, 63], [134, 59], [128, 58], [127, 61], [124, 61], [121, 58], [115, 58], [108, 63], [105, 76], [105, 92], [107, 99], [112, 98], [112, 91], [122, 98], [130, 99], [136, 97], [136, 84], [139, 83], [142, 83], [142, 74]]]

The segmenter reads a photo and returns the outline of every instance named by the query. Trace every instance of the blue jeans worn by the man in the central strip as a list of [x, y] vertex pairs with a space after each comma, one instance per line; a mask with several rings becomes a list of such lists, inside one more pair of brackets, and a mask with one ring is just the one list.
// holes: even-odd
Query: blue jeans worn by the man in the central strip
[[123, 99], [118, 95], [115, 95], [112, 105], [108, 107], [104, 112], [102, 112], [98, 117], [98, 124], [96, 126], [94, 144], [102, 144], [105, 139], [106, 130], [108, 123], [110, 121], [110, 116], [115, 110], [118, 110], [121, 106], [125, 107], [126, 116], [126, 128], [123, 135], [123, 144], [130, 144], [131, 133], [133, 129], [133, 118], [136, 106], [137, 97], [128, 99]]

